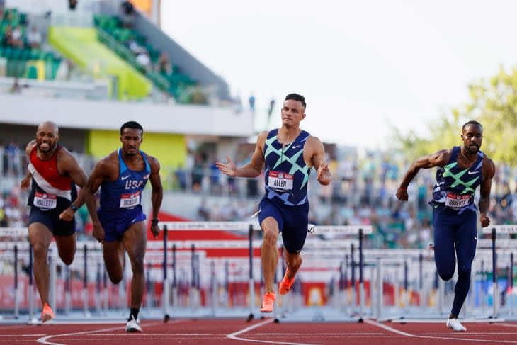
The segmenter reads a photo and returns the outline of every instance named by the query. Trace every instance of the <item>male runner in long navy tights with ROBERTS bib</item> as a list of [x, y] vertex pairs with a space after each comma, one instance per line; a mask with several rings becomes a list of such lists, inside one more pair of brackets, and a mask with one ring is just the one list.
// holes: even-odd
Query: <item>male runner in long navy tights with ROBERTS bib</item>
[[444, 281], [453, 278], [458, 259], [458, 281], [454, 288], [453, 308], [447, 327], [458, 332], [467, 329], [458, 321], [461, 307], [470, 289], [470, 270], [476, 254], [477, 217], [474, 193], [479, 189], [479, 222], [490, 224], [487, 210], [490, 204], [492, 177], [496, 168], [492, 159], [479, 148], [483, 140], [483, 127], [477, 121], [463, 125], [463, 145], [442, 149], [416, 159], [409, 167], [397, 189], [397, 198], [406, 200], [407, 186], [420, 169], [434, 166], [436, 185], [433, 188], [434, 260], [438, 274]]

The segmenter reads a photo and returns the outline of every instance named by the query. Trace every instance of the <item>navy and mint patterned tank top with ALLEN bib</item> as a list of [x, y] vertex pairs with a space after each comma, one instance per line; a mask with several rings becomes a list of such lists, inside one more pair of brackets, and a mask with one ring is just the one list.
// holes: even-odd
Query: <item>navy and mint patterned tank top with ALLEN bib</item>
[[283, 205], [307, 203], [307, 182], [310, 169], [303, 159], [303, 147], [309, 133], [302, 130], [295, 140], [282, 145], [278, 129], [268, 133], [264, 144], [266, 162], [266, 198]]

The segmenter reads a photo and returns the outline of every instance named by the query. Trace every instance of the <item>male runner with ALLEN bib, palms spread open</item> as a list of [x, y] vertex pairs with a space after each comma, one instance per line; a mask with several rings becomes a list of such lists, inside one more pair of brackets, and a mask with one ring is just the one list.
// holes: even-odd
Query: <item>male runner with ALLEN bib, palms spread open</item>
[[278, 285], [280, 295], [288, 293], [302, 264], [302, 251], [309, 223], [307, 182], [311, 168], [317, 180], [326, 186], [331, 181], [329, 165], [325, 161], [322, 142], [300, 129], [305, 118], [305, 98], [288, 94], [281, 110], [282, 127], [261, 132], [256, 140], [251, 162], [237, 168], [227, 157], [227, 164], [216, 166], [228, 176], [256, 177], [266, 164], [266, 193], [258, 205], [258, 220], [263, 231], [261, 261], [266, 293], [262, 297], [261, 312], [272, 312], [275, 302], [273, 280], [278, 264], [276, 242], [282, 232], [287, 264], [283, 280]]

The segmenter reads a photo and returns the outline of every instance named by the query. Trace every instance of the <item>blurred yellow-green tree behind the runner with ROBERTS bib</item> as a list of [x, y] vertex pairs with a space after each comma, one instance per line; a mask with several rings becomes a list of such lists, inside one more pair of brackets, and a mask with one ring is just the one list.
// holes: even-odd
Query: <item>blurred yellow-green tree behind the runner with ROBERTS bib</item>
[[438, 149], [462, 145], [461, 126], [469, 120], [477, 120], [484, 128], [482, 150], [495, 162], [517, 164], [517, 69], [506, 72], [501, 66], [494, 77], [467, 87], [470, 100], [428, 123], [425, 138], [414, 131], [403, 134], [392, 128], [392, 142], [396, 142], [409, 159], [416, 159]]

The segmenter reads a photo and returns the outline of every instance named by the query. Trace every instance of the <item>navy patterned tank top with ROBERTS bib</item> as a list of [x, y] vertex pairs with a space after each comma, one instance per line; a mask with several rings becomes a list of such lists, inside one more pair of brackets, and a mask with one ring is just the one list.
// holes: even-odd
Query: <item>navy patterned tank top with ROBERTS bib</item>
[[484, 153], [477, 152], [475, 162], [467, 169], [458, 166], [460, 147], [453, 147], [450, 159], [443, 168], [436, 171], [436, 185], [433, 188], [433, 207], [447, 207], [462, 212], [467, 208], [475, 210], [474, 193], [482, 182]]

